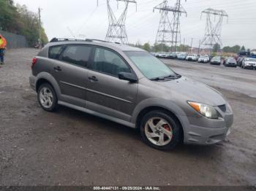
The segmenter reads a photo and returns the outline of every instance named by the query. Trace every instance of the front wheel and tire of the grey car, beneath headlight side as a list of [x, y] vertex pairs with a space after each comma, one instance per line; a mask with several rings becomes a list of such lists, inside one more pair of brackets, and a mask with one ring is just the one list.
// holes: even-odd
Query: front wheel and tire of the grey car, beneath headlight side
[[170, 150], [180, 142], [181, 125], [176, 117], [167, 112], [152, 111], [143, 116], [140, 122], [140, 134], [148, 146], [159, 150]]

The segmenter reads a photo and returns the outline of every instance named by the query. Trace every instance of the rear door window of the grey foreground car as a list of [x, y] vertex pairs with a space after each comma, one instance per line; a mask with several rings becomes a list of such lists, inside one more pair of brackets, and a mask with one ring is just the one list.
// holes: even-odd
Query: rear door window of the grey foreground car
[[61, 56], [61, 61], [86, 66], [91, 54], [91, 47], [82, 45], [68, 46]]

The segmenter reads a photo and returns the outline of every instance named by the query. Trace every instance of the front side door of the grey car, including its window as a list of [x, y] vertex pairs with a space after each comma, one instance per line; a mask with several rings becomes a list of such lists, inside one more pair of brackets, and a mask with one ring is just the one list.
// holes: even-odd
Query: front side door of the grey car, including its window
[[86, 108], [129, 120], [135, 108], [138, 83], [118, 79], [119, 72], [134, 72], [117, 52], [95, 47], [87, 78]]

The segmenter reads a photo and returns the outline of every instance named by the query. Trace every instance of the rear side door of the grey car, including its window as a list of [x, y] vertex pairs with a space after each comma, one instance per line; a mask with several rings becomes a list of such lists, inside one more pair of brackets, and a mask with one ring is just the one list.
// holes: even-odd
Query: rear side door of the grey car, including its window
[[[86, 104], [86, 68], [92, 47], [86, 44], [65, 45], [54, 60], [52, 74], [61, 89], [61, 101], [77, 106]], [[49, 50], [50, 56], [51, 50]]]

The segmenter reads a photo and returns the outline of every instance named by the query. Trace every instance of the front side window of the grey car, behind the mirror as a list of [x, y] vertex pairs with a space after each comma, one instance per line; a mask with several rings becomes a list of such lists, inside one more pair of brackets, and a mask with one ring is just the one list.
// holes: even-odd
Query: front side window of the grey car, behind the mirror
[[92, 69], [116, 77], [120, 72], [131, 72], [129, 66], [115, 52], [98, 47], [95, 49]]

